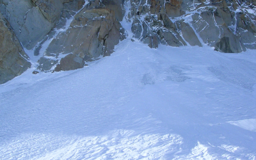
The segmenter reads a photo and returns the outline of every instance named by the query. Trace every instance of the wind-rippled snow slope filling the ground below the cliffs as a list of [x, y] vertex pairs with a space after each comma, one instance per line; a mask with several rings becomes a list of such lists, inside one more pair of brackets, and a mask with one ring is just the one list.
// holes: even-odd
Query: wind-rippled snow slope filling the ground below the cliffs
[[0, 85], [0, 159], [256, 159], [256, 54], [131, 37]]

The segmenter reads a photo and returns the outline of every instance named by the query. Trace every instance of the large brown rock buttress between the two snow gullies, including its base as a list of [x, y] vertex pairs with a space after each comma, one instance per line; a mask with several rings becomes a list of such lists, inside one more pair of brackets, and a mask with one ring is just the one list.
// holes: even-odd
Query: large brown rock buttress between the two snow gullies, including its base
[[[97, 3], [87, 4], [74, 15], [68, 29], [53, 38], [44, 57], [40, 58], [38, 70], [83, 68], [84, 61], [109, 56], [113, 52], [115, 45], [125, 36], [124, 29], [118, 22], [119, 16], [116, 17], [115, 11], [103, 4], [105, 1]], [[115, 1], [111, 3], [111, 7], [115, 8], [114, 5]], [[52, 68], [54, 66], [56, 68]]]

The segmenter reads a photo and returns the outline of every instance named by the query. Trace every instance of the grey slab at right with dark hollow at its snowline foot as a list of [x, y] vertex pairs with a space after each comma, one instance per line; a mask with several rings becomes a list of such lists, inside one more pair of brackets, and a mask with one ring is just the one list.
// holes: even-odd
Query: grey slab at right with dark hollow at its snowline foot
[[225, 20], [223, 20], [218, 12], [208, 10], [197, 16], [198, 18], [196, 18], [196, 16], [193, 17], [194, 21], [192, 25], [196, 28], [196, 31], [199, 33], [202, 40], [204, 40], [205, 44], [215, 47], [216, 51], [221, 52], [245, 51], [243, 44], [240, 43], [239, 36], [234, 35], [234, 33], [227, 28]]

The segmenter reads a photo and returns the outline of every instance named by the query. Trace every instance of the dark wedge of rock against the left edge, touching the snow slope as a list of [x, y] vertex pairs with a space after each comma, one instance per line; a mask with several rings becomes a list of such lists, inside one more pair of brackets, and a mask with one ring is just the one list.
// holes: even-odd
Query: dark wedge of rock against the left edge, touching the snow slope
[[0, 13], [0, 84], [19, 76], [30, 66], [27, 54]]

